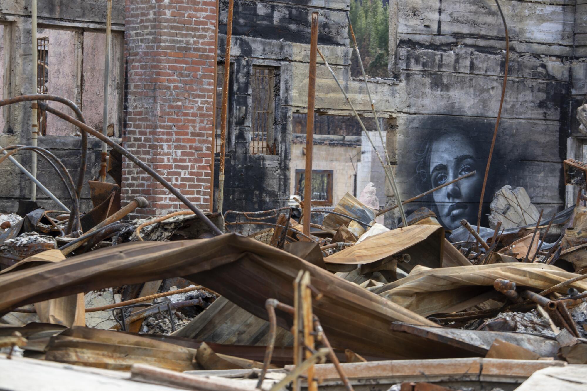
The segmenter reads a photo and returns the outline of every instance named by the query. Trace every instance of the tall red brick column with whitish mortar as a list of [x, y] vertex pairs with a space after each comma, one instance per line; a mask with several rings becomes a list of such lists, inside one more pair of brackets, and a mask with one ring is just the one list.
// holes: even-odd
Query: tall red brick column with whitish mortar
[[[202, 210], [210, 202], [216, 3], [127, 0], [126, 129], [123, 146]], [[184, 208], [130, 161], [123, 199], [143, 196], [144, 217]], [[136, 217], [136, 216], [135, 216]]]

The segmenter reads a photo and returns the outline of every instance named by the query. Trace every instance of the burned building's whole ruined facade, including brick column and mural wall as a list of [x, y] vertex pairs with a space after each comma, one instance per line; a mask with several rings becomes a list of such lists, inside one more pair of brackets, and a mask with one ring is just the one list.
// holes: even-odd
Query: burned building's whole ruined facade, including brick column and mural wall
[[[0, 6], [3, 97], [33, 90], [27, 61], [31, 15], [25, 3]], [[39, 37], [48, 43], [38, 53], [48, 56], [48, 77], [37, 88], [68, 97], [96, 129], [102, 127], [105, 4], [39, 1]], [[114, 1], [110, 136], [152, 164], [194, 204], [215, 209], [222, 75], [230, 62], [223, 210], [267, 210], [299, 195], [312, 11], [319, 12], [319, 48], [367, 119], [368, 130], [375, 127], [365, 84], [352, 73], [350, 1], [237, 0], [230, 59], [225, 58], [227, 8], [227, 1], [220, 2], [218, 14], [213, 1]], [[409, 198], [475, 170], [475, 176], [410, 206], [429, 207], [447, 227], [460, 218], [474, 220], [505, 66], [505, 31], [497, 5], [407, 1], [390, 2], [386, 9], [387, 77], [368, 83], [400, 195]], [[505, 184], [522, 186], [548, 214], [574, 199], [572, 189], [549, 186], [561, 182], [561, 161], [583, 159], [585, 135], [578, 130], [575, 109], [586, 93], [585, 5], [504, 1], [502, 11], [510, 39], [509, 75], [485, 202]], [[315, 201], [330, 205], [373, 182], [380, 203], [393, 204], [372, 147], [320, 60], [316, 91], [313, 168], [320, 188]], [[2, 146], [28, 144], [30, 113], [24, 104], [3, 108]], [[60, 121], [49, 117], [39, 145], [56, 149], [75, 173], [79, 134]], [[86, 176], [93, 178], [100, 143], [91, 139], [90, 146]], [[28, 154], [18, 159], [28, 167]], [[9, 163], [0, 170], [2, 209], [14, 210], [18, 198], [29, 197], [28, 178]], [[65, 197], [65, 188], [53, 184], [52, 175], [40, 162], [41, 181]], [[122, 178], [124, 199], [145, 195], [151, 202], [149, 210], [138, 214], [180, 208], [129, 162]], [[45, 194], [38, 198], [41, 204], [51, 202]], [[82, 201], [89, 201], [88, 194]]]

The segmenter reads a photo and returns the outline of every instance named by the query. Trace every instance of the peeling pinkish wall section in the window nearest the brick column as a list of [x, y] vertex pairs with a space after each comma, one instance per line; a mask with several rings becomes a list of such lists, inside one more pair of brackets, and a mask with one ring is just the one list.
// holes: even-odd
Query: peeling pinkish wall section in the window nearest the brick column
[[[114, 126], [114, 136], [120, 136], [120, 109], [122, 108], [123, 39], [121, 34], [112, 34], [110, 41], [110, 82], [108, 97], [108, 124]], [[83, 93], [82, 111], [86, 122], [96, 130], [102, 130], [104, 99], [104, 56], [106, 34], [83, 33]]]

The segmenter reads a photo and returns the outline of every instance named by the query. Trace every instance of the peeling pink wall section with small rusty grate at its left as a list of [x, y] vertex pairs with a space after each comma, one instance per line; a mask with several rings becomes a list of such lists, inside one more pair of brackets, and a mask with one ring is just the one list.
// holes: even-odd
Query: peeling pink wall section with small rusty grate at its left
[[[76, 102], [76, 33], [68, 30], [38, 29], [37, 37], [49, 37], [48, 93]], [[53, 103], [63, 108], [60, 103]], [[62, 107], [60, 107], [62, 106]], [[69, 110], [65, 110], [69, 113]], [[47, 136], [72, 136], [75, 127], [56, 116], [47, 116]]]

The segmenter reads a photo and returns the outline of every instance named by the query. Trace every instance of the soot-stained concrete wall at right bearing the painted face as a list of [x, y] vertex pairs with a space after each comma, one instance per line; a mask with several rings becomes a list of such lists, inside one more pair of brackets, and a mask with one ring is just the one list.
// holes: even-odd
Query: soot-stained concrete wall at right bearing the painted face
[[[571, 1], [552, 4], [500, 0], [510, 33], [510, 60], [502, 118], [485, 191], [481, 224], [504, 185], [526, 188], [544, 215], [565, 206], [562, 160], [571, 135], [571, 72], [575, 19]], [[390, 75], [403, 102], [389, 133], [397, 146], [403, 199], [453, 180], [407, 206], [426, 206], [447, 228], [463, 218], [476, 224], [485, 164], [500, 105], [505, 68], [504, 27], [494, 1], [408, 0], [391, 7]], [[393, 198], [389, 199], [394, 203]], [[397, 216], [396, 216], [397, 218]], [[388, 219], [388, 224], [391, 221]]]

